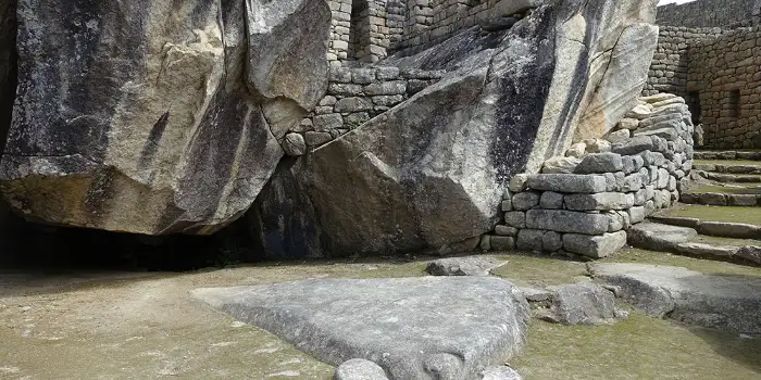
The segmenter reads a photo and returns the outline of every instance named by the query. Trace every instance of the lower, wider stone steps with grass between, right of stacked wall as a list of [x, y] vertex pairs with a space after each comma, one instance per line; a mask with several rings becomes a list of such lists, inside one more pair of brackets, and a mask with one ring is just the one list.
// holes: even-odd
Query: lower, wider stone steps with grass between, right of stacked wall
[[682, 205], [633, 226], [635, 248], [761, 265], [761, 213], [754, 207]]

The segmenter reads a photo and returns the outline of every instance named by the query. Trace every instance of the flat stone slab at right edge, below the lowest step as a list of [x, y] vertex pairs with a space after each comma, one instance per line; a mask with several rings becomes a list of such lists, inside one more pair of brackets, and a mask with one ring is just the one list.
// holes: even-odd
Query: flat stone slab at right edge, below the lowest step
[[761, 334], [761, 278], [713, 276], [683, 267], [590, 264], [647, 314], [732, 332]]

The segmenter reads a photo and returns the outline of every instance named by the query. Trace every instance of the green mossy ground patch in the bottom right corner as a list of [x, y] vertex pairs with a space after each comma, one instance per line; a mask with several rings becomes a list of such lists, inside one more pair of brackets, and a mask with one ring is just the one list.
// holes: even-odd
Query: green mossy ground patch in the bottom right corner
[[687, 327], [633, 312], [611, 326], [532, 321], [510, 365], [524, 379], [751, 379], [761, 340]]

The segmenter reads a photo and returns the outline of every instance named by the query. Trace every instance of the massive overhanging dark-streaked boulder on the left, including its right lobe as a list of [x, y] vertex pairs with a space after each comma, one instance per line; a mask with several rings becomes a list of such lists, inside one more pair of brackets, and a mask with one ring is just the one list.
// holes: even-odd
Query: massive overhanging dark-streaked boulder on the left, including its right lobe
[[0, 162], [11, 205], [150, 235], [210, 233], [241, 215], [283, 156], [285, 128], [325, 87], [327, 4], [274, 4], [18, 1]]

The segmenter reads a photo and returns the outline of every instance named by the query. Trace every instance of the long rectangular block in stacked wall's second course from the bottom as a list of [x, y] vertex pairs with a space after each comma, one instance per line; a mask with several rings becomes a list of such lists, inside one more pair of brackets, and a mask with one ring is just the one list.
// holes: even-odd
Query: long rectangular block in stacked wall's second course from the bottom
[[526, 227], [558, 232], [601, 235], [608, 232], [610, 219], [602, 214], [587, 214], [565, 210], [529, 210]]

